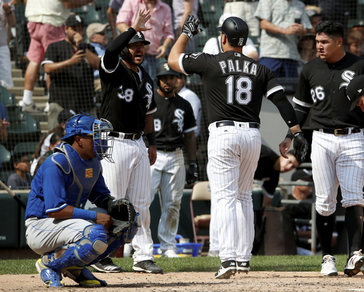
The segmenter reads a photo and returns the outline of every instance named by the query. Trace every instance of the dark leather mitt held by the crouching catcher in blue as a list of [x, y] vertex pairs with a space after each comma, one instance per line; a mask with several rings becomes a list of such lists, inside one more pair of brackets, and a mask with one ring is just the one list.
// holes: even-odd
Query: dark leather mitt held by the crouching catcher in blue
[[112, 201], [107, 213], [114, 219], [114, 224], [108, 230], [112, 235], [120, 235], [123, 230], [132, 226], [137, 215], [132, 203], [125, 198]]

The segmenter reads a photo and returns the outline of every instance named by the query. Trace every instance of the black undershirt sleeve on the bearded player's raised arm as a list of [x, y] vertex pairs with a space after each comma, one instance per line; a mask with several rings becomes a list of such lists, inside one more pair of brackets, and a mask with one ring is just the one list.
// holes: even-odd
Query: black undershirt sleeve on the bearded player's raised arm
[[107, 47], [104, 55], [104, 66], [106, 69], [114, 69], [119, 63], [119, 55], [137, 33], [134, 28], [128, 28], [121, 35], [115, 38]]

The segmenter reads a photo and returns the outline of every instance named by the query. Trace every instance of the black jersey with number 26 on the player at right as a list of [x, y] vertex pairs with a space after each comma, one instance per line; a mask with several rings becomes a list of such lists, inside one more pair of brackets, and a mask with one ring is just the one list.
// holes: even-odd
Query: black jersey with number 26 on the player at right
[[320, 57], [304, 65], [293, 101], [311, 108], [312, 130], [319, 128], [364, 128], [364, 113], [350, 111], [346, 87], [355, 75], [364, 74], [364, 60], [346, 52], [336, 63]]

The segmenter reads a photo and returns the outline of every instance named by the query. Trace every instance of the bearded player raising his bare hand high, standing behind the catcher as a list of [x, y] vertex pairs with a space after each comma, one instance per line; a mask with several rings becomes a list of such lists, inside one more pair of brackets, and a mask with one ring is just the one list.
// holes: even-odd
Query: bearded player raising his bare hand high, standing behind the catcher
[[[100, 62], [102, 90], [101, 116], [114, 128], [114, 164], [102, 164], [105, 182], [117, 198], [128, 198], [140, 213], [141, 228], [133, 240], [134, 271], [162, 274], [154, 264], [150, 213], [151, 168], [156, 162], [156, 137], [153, 113], [156, 111], [153, 81], [141, 67], [144, 45], [141, 31], [150, 11], [139, 10], [133, 25], [107, 47]], [[122, 57], [122, 58], [120, 58]], [[141, 138], [146, 135], [149, 149]], [[100, 263], [99, 263], [100, 264]], [[99, 270], [108, 271], [108, 263]]]

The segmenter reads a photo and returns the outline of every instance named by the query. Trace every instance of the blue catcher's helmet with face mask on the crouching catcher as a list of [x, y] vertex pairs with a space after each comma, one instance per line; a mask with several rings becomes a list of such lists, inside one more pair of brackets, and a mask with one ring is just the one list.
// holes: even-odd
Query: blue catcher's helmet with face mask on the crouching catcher
[[103, 118], [98, 120], [87, 113], [79, 114], [65, 122], [65, 136], [62, 140], [74, 135], [90, 135], [94, 140], [94, 152], [97, 159], [106, 159], [113, 163], [114, 138], [109, 136], [112, 129], [112, 124], [108, 120]]

